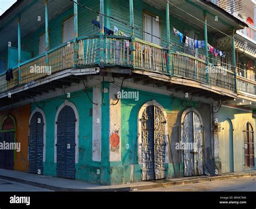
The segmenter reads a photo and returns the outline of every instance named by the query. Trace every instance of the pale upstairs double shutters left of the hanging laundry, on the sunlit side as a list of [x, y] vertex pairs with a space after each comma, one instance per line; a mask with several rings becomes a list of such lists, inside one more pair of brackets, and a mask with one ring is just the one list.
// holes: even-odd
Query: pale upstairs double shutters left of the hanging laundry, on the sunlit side
[[158, 16], [151, 16], [144, 13], [144, 40], [160, 45], [160, 20]]

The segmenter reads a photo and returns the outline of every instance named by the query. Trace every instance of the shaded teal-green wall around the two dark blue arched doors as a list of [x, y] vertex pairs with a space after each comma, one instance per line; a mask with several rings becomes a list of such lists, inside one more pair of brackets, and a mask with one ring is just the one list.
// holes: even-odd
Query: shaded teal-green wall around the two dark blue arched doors
[[[89, 89], [89, 96], [92, 96], [92, 89]], [[105, 93], [108, 98], [108, 94]], [[109, 183], [109, 154], [107, 136], [108, 126], [103, 126], [103, 141], [102, 141], [102, 162], [92, 161], [92, 116], [90, 116], [90, 109], [92, 103], [87, 98], [84, 91], [71, 93], [69, 102], [75, 104], [79, 114], [79, 160], [76, 164], [76, 179], [85, 180], [89, 183], [107, 184]], [[105, 100], [103, 109], [103, 123], [107, 124], [108, 115], [106, 107], [108, 106]], [[44, 163], [44, 174], [56, 176], [56, 163], [54, 163], [54, 139], [55, 139], [55, 116], [58, 107], [64, 103], [64, 96], [51, 98], [43, 101], [44, 106], [42, 110], [46, 118], [46, 158]], [[39, 106], [43, 105], [38, 103]], [[31, 105], [31, 112], [36, 108], [36, 104]], [[108, 137], [107, 137], [108, 138]], [[97, 170], [100, 174], [97, 174]]]

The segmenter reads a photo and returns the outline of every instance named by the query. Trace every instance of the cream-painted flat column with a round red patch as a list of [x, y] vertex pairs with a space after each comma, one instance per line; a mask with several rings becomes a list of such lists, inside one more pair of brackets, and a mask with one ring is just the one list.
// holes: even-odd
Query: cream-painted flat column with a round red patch
[[116, 95], [120, 87], [109, 86], [109, 161], [121, 161], [121, 99], [117, 103]]

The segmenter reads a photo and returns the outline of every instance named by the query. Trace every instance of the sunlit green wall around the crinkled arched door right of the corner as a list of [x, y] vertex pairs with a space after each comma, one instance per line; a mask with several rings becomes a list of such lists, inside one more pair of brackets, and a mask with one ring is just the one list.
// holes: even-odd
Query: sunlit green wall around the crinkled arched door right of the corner
[[[124, 91], [138, 91], [136, 89], [129, 89], [123, 87]], [[156, 101], [161, 104], [166, 113], [167, 117], [172, 117], [174, 112], [178, 112], [179, 116], [186, 109], [181, 106], [181, 101], [183, 99], [173, 98], [171, 96], [159, 95], [157, 93], [151, 93], [147, 91], [138, 91], [139, 100], [134, 99], [122, 99], [121, 100], [121, 135], [122, 135], [122, 162], [112, 162], [111, 167], [111, 184], [129, 183], [132, 181], [142, 181], [142, 165], [138, 164], [138, 152], [137, 152], [137, 122], [138, 122], [138, 112], [143, 104], [149, 102], [150, 100], [156, 99]], [[199, 103], [192, 102], [191, 106], [198, 109]], [[178, 116], [178, 117], [179, 117]], [[180, 120], [180, 119], [179, 119]], [[177, 120], [177, 123], [179, 123]], [[168, 120], [168, 123], [170, 121]], [[171, 123], [169, 124], [171, 126]], [[170, 127], [169, 127], [170, 129]], [[170, 137], [170, 140], [177, 141], [178, 136]], [[130, 149], [126, 149], [126, 144], [129, 144]], [[172, 149], [173, 152], [176, 150]], [[173, 153], [174, 154], [174, 153]], [[177, 153], [176, 153], [177, 154]], [[134, 179], [133, 176], [133, 165], [134, 169]], [[175, 171], [174, 171], [175, 169]], [[169, 164], [166, 164], [166, 176], [168, 178], [174, 178], [183, 176], [183, 163], [179, 164], [179, 161], [171, 160]]]

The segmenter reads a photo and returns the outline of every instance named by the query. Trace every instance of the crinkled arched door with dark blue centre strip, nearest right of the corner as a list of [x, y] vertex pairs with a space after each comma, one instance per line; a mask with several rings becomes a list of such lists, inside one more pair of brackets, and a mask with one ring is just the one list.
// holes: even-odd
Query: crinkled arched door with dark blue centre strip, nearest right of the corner
[[165, 117], [154, 105], [142, 114], [142, 173], [143, 180], [165, 178]]

